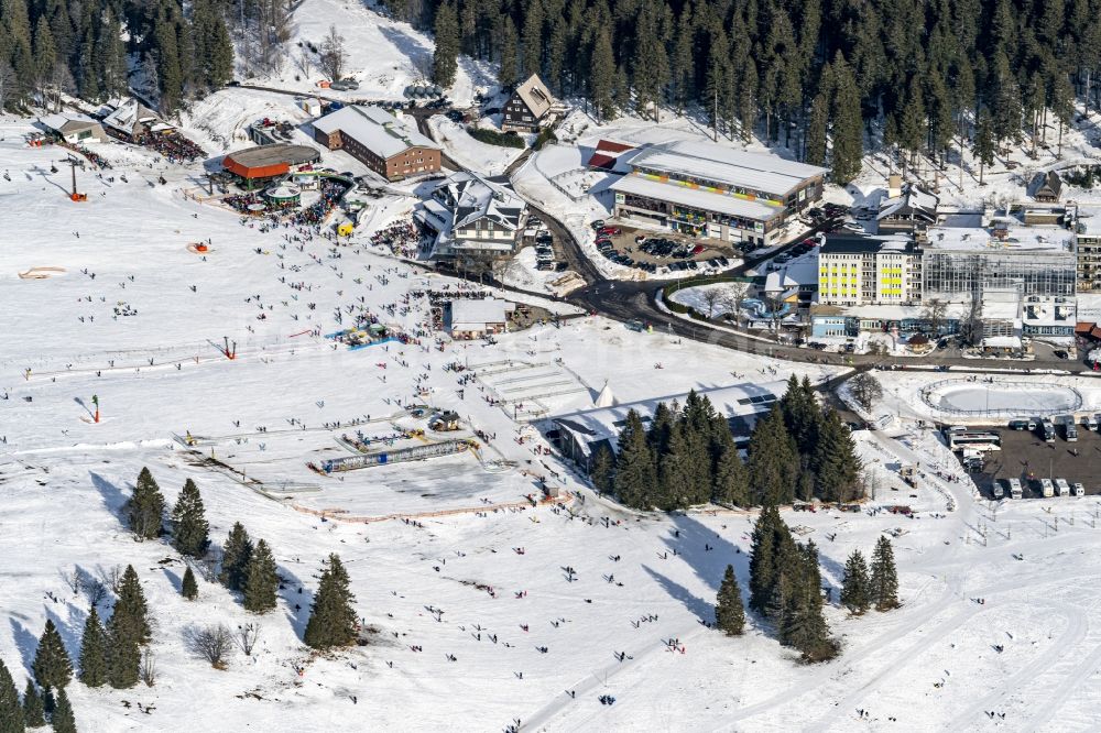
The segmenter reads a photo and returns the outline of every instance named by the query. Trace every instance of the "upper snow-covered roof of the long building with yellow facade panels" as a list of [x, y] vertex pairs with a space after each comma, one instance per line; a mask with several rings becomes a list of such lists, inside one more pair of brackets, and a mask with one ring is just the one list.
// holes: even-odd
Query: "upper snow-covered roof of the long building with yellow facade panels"
[[723, 187], [784, 196], [826, 168], [787, 161], [767, 153], [748, 153], [724, 145], [678, 140], [646, 145], [620, 156], [632, 168], [669, 176], [691, 176]]

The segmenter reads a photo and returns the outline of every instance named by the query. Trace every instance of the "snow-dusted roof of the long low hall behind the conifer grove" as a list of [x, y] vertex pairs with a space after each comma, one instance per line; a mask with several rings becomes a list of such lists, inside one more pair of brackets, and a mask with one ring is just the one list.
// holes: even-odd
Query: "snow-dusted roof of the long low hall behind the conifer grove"
[[[728, 420], [752, 418], [757, 413], [767, 411], [787, 390], [786, 382], [768, 382], [764, 384], [734, 384], [730, 386], [697, 390], [697, 394], [707, 397], [715, 411]], [[635, 411], [644, 423], [648, 423], [657, 409], [658, 403], [677, 401], [685, 403], [687, 393], [669, 394], [648, 400], [640, 400], [611, 407], [597, 407], [559, 415], [554, 418], [556, 425], [569, 430], [580, 442], [592, 445], [608, 440], [612, 450], [618, 448], [619, 433], [626, 424], [626, 414]], [[745, 419], [750, 427], [752, 419]]]

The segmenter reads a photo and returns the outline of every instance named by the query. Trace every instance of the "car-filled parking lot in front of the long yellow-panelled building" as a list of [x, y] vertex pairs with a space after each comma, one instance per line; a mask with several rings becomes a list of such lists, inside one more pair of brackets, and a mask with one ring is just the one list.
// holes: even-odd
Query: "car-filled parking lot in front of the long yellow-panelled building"
[[722, 270], [739, 256], [729, 242], [718, 239], [656, 232], [618, 221], [608, 221], [604, 226], [617, 232], [597, 232], [597, 248], [601, 254], [619, 264], [650, 273], [656, 273], [659, 267], [674, 272]]

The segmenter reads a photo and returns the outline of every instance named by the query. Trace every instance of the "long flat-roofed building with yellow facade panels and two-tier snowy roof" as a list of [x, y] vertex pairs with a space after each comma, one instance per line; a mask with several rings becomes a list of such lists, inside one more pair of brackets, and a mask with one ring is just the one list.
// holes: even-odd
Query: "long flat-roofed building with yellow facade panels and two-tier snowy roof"
[[821, 198], [826, 168], [682, 140], [620, 156], [614, 215], [693, 237], [772, 244], [791, 218]]

